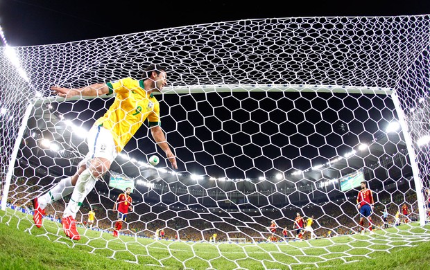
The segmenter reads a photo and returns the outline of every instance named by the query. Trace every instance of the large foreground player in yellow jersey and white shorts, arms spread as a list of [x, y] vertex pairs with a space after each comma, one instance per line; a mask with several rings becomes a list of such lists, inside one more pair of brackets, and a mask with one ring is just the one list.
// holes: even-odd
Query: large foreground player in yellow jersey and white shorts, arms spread
[[68, 237], [72, 240], [80, 240], [75, 218], [83, 200], [94, 188], [96, 181], [110, 170], [114, 159], [146, 119], [154, 141], [164, 151], [172, 168], [178, 169], [175, 155], [160, 126], [160, 104], [153, 96], [153, 93], [162, 92], [166, 84], [166, 69], [157, 64], [150, 64], [145, 69], [141, 80], [123, 78], [116, 82], [92, 84], [80, 89], [51, 87], [53, 93], [63, 98], [98, 97], [114, 93], [115, 100], [89, 131], [87, 136], [89, 152], [78, 165], [78, 171], [74, 175], [76, 183], [73, 183], [74, 177], [70, 177], [67, 181], [62, 179], [58, 183], [59, 186], [51, 188], [44, 199], [42, 197], [33, 199], [35, 208], [33, 220], [37, 227], [42, 226], [44, 208], [49, 202], [72, 193], [61, 224]]

